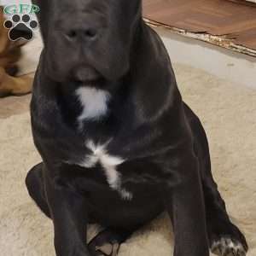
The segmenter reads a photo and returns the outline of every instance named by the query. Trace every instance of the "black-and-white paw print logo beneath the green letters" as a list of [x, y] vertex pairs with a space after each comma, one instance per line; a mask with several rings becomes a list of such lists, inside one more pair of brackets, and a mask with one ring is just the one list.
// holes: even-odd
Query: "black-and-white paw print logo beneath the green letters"
[[11, 20], [5, 20], [3, 26], [9, 29], [10, 40], [28, 41], [33, 38], [33, 30], [38, 28], [38, 21], [32, 20], [29, 15], [13, 15]]

